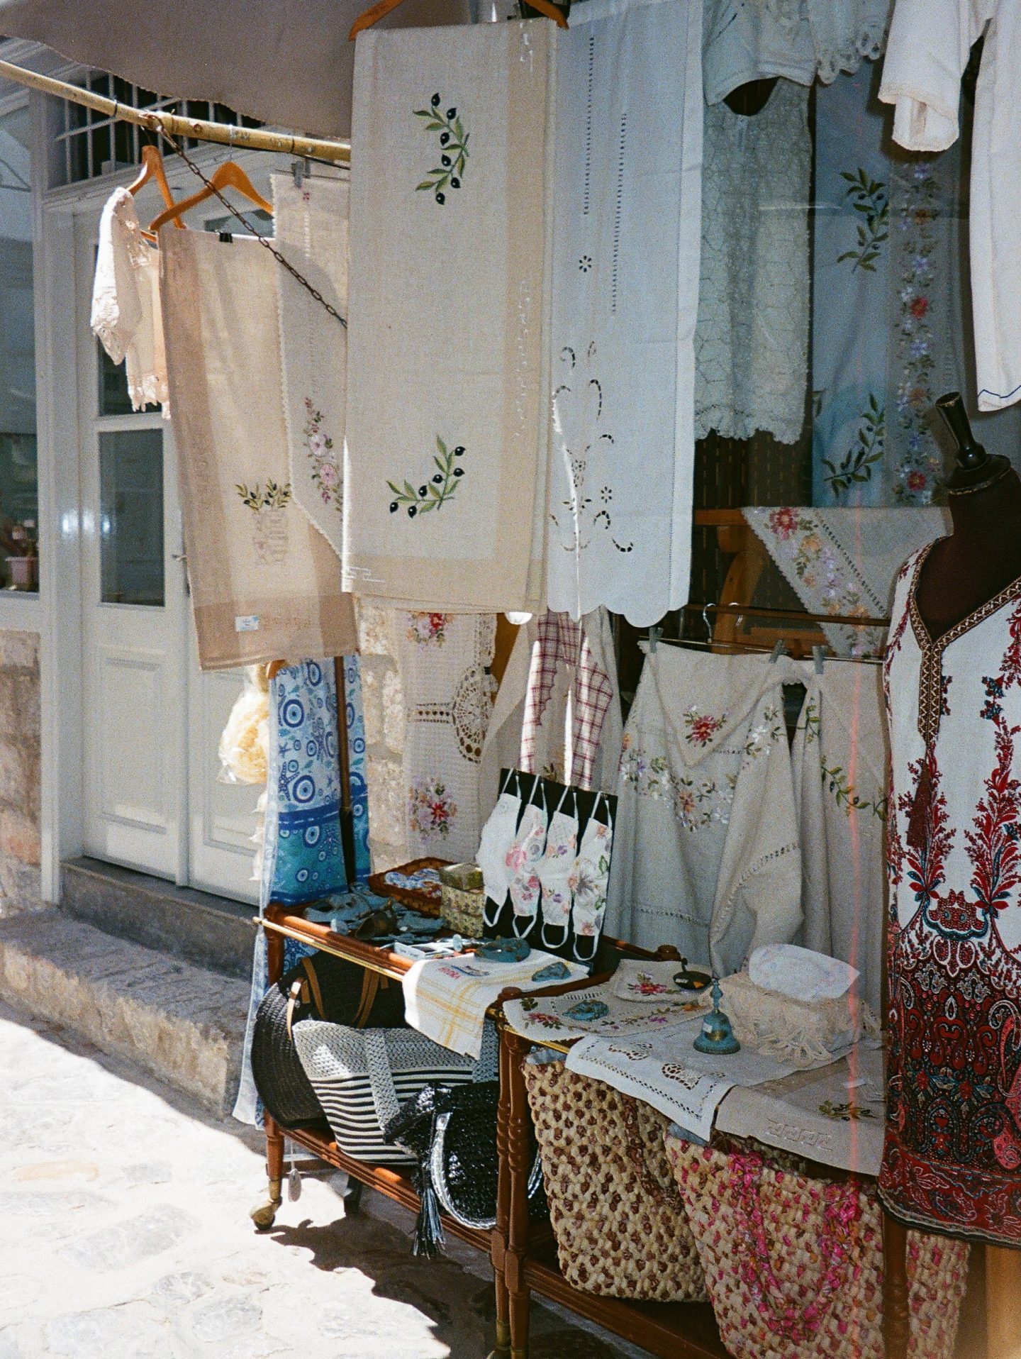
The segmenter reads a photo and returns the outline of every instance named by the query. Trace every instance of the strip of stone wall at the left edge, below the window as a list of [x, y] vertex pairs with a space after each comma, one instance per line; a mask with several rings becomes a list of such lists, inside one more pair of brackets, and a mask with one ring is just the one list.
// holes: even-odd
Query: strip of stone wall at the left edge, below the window
[[0, 629], [0, 919], [39, 905], [39, 635]]

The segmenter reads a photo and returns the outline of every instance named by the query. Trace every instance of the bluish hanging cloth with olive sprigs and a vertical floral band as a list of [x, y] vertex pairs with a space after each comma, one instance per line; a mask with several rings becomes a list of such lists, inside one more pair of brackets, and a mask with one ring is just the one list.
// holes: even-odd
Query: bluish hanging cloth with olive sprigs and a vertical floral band
[[[946, 448], [927, 413], [944, 391], [976, 390], [961, 158], [888, 154], [877, 86], [862, 68], [816, 105], [813, 500], [824, 506], [930, 503]], [[976, 436], [1017, 457], [1021, 414], [979, 417]]]

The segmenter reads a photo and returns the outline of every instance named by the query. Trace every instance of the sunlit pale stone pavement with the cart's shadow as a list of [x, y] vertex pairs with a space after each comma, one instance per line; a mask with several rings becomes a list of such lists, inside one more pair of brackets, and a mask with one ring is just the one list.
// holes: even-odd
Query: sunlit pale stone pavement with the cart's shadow
[[[467, 1246], [410, 1253], [375, 1195], [305, 1177], [273, 1231], [261, 1139], [57, 1023], [0, 1004], [0, 1359], [485, 1359]], [[534, 1359], [639, 1351], [534, 1306]]]

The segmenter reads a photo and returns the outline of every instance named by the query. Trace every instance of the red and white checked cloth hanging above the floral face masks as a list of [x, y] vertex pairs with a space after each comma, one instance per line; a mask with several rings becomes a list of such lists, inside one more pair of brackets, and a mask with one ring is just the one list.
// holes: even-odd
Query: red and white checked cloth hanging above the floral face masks
[[566, 753], [563, 777], [577, 788], [589, 790], [603, 722], [614, 699], [614, 682], [592, 654], [584, 621], [574, 622], [566, 613], [544, 613], [536, 621], [538, 637], [528, 673], [520, 766], [525, 773], [543, 772], [535, 768], [539, 726], [553, 694], [557, 671], [561, 666], [568, 666], [572, 671], [570, 750]]

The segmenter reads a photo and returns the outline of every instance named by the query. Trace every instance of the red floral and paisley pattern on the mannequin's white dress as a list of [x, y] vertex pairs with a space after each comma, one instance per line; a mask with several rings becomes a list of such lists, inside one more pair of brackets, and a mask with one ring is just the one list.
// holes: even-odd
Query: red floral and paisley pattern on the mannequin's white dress
[[[988, 722], [994, 728], [992, 768], [971, 825], [952, 826], [941, 787], [952, 775], [940, 768], [940, 718], [948, 712], [941, 656], [954, 636], [995, 609], [986, 606], [965, 620], [967, 626], [953, 629], [953, 636], [930, 641], [914, 602], [923, 560], [925, 553], [915, 564], [887, 660], [887, 701], [891, 728], [896, 730], [896, 704], [914, 700], [896, 690], [896, 656], [903, 651], [903, 622], [910, 616], [922, 650], [923, 689], [929, 667], [930, 718], [919, 723], [923, 757], [906, 769], [895, 765], [891, 783], [891, 1051], [880, 1195], [908, 1224], [1018, 1245], [1021, 959], [1003, 943], [999, 921], [1005, 912], [1021, 911], [1021, 780], [1013, 776], [1021, 724], [1010, 724], [1003, 701], [1021, 686], [1021, 607], [1009, 618], [1009, 643], [997, 674], [982, 677], [984, 692], [975, 711], [978, 723]], [[1005, 607], [1017, 594], [1016, 583], [991, 605]], [[934, 713], [933, 673], [940, 680]], [[973, 694], [975, 681], [969, 684]], [[1011, 694], [1014, 712], [1017, 697]], [[964, 701], [963, 692], [956, 703]], [[967, 758], [965, 752], [961, 758]], [[904, 828], [923, 781], [923, 834], [911, 845], [903, 839]], [[967, 886], [961, 849], [971, 866]], [[957, 881], [948, 882], [952, 851]], [[906, 909], [910, 905], [914, 911]]]

